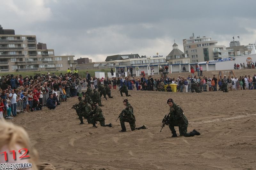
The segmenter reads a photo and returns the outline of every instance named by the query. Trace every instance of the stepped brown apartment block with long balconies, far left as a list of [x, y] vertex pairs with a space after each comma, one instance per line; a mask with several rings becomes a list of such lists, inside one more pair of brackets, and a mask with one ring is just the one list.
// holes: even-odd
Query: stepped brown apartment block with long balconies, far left
[[35, 35], [15, 35], [0, 25], [0, 72], [55, 71], [75, 68], [74, 55], [55, 56]]

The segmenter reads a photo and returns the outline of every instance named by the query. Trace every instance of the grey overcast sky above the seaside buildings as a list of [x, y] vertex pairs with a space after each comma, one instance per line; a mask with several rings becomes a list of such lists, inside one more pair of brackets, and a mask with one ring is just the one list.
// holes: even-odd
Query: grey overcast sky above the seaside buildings
[[115, 54], [166, 56], [182, 39], [229, 46], [256, 40], [255, 0], [1, 0], [0, 24], [36, 35], [55, 55], [104, 61]]

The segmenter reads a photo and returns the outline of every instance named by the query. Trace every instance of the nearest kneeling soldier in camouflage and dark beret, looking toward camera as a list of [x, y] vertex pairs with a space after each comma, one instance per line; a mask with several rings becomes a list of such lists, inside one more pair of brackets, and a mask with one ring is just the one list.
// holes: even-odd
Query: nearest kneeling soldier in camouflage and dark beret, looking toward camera
[[179, 105], [174, 103], [172, 99], [168, 99], [167, 104], [170, 106], [170, 117], [167, 124], [169, 125], [169, 128], [172, 131], [172, 137], [177, 137], [174, 126], [179, 127], [180, 136], [190, 137], [194, 135], [200, 135], [200, 133], [195, 129], [187, 133], [188, 119], [187, 117], [185, 117], [183, 110], [180, 108]]

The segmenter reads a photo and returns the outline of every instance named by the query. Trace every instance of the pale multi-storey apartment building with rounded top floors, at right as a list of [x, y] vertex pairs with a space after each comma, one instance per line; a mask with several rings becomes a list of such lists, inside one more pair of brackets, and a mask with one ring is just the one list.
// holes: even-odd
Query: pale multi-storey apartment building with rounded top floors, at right
[[189, 37], [183, 39], [184, 53], [188, 54], [190, 63], [198, 63], [202, 61], [218, 60], [221, 58], [220, 53], [228, 57], [228, 51], [224, 45], [217, 45], [217, 40], [212, 40], [212, 37]]

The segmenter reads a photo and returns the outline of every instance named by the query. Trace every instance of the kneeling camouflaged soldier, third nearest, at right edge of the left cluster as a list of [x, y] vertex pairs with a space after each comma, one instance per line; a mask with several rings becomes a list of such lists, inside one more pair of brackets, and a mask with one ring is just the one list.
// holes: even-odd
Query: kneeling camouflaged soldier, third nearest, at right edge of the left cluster
[[105, 117], [102, 114], [102, 110], [100, 109], [98, 103], [94, 103], [94, 110], [92, 112], [92, 115], [90, 116], [91, 122], [93, 124], [93, 127], [96, 127], [96, 121], [100, 122], [100, 126], [108, 126], [112, 127], [112, 124], [106, 124], [105, 125]]

